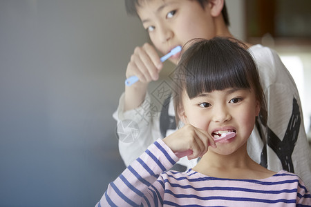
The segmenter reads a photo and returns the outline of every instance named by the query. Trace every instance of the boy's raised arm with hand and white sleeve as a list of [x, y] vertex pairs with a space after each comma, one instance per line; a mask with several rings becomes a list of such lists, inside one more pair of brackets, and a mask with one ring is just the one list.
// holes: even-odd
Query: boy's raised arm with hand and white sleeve
[[[144, 43], [142, 47], [135, 48], [126, 68], [126, 78], [134, 75], [139, 78], [133, 85], [125, 86], [124, 95], [113, 114], [117, 120], [120, 155], [126, 166], [160, 137], [160, 111], [151, 110], [153, 103], [147, 95], [147, 88], [150, 81], [158, 79], [162, 66], [156, 49]], [[129, 123], [132, 126], [128, 127]], [[132, 140], [124, 140], [124, 137]]]

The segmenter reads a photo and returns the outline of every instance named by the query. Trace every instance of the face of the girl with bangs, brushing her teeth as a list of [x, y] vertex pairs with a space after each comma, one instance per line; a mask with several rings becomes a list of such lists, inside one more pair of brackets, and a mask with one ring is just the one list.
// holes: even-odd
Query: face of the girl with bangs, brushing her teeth
[[180, 119], [211, 137], [218, 132], [236, 132], [234, 138], [217, 142], [216, 149], [209, 148], [221, 155], [230, 155], [246, 144], [260, 110], [253, 90], [235, 88], [202, 93], [194, 99], [184, 92], [182, 107]]

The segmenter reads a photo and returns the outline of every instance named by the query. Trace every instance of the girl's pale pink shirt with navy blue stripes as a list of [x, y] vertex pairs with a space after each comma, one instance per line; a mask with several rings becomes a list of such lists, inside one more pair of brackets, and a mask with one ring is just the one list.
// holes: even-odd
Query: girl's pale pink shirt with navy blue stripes
[[109, 184], [96, 206], [311, 206], [303, 181], [285, 170], [265, 179], [223, 179], [169, 170], [177, 161], [158, 139]]

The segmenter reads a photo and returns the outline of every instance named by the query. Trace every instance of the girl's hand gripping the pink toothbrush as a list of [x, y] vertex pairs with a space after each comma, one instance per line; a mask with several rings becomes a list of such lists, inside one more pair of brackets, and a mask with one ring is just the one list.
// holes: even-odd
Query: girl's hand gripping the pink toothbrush
[[214, 139], [207, 132], [190, 124], [165, 137], [163, 141], [173, 152], [192, 150], [192, 154], [187, 156], [188, 159], [202, 157], [207, 152], [209, 146], [217, 147]]

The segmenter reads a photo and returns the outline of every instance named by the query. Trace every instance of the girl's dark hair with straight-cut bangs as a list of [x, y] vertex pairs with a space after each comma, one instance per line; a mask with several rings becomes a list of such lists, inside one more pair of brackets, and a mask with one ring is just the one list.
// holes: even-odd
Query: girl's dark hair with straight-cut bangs
[[234, 38], [214, 37], [209, 40], [193, 39], [184, 48], [187, 50], [182, 52], [173, 76], [176, 123], [179, 122], [184, 92], [187, 92], [189, 99], [193, 99], [203, 92], [247, 88], [254, 90], [261, 106], [261, 121], [265, 126], [265, 95], [256, 63], [243, 43]]

